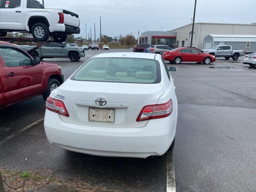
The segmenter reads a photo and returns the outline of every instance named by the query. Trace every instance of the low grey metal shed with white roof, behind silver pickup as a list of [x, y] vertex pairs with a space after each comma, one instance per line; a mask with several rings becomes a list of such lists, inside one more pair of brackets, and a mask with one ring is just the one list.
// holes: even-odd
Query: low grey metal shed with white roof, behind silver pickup
[[231, 45], [233, 49], [243, 49], [246, 52], [255, 52], [256, 35], [209, 34], [204, 38], [203, 49], [209, 49], [214, 45]]

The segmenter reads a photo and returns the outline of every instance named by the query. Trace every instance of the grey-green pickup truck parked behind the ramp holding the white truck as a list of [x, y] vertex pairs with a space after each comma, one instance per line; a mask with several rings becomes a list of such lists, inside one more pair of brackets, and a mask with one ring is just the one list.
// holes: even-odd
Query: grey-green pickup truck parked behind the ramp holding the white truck
[[[20, 48], [26, 52], [35, 46], [21, 45]], [[67, 57], [72, 62], [77, 62], [81, 57], [85, 56], [84, 48], [78, 46], [70, 46], [68, 44], [57, 42], [45, 42], [40, 48], [34, 51], [31, 56], [43, 58]]]

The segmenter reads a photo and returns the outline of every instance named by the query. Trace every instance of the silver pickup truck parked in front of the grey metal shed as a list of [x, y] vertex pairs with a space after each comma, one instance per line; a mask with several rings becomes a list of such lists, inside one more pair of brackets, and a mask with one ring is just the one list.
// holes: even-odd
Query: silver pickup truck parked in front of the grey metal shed
[[216, 45], [210, 49], [201, 50], [204, 53], [214, 55], [215, 57], [224, 57], [226, 60], [232, 58], [238, 60], [240, 56], [244, 56], [244, 50], [232, 49], [230, 45]]

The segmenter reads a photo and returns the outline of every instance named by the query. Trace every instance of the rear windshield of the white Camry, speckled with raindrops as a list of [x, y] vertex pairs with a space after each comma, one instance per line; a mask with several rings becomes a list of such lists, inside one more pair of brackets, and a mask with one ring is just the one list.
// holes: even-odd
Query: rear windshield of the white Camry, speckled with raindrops
[[77, 81], [155, 84], [161, 81], [160, 64], [141, 58], [93, 58], [70, 78]]

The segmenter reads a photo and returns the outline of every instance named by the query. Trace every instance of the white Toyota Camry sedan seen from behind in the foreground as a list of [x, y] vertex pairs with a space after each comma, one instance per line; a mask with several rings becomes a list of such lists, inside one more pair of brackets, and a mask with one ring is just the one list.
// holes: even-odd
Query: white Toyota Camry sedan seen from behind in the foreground
[[147, 158], [174, 147], [177, 98], [160, 54], [105, 53], [84, 63], [46, 101], [49, 142], [97, 156]]

